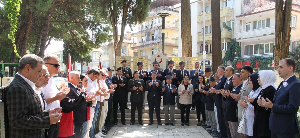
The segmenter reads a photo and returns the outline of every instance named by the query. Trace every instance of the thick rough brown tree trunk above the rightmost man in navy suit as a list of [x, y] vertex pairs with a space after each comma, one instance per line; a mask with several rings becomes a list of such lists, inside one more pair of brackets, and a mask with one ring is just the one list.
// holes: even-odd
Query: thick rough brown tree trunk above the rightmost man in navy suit
[[278, 68], [279, 61], [281, 59], [288, 58], [289, 55], [291, 39], [291, 12], [292, 1], [285, 1], [285, 4], [283, 4], [283, 0], [276, 0], [274, 46], [275, 70]]

